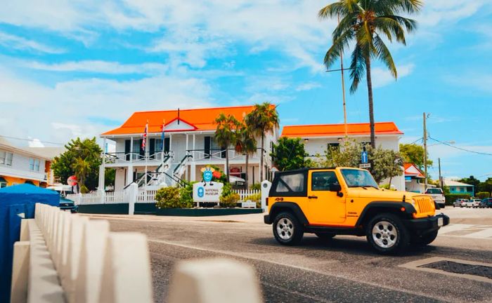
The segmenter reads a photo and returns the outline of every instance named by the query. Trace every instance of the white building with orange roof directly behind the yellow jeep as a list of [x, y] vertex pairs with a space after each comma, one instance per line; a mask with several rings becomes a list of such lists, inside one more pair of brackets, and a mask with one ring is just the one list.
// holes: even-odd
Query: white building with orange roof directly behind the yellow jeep
[[[375, 123], [376, 145], [384, 149], [399, 152], [400, 138], [403, 133], [393, 122]], [[369, 123], [348, 123], [347, 136], [361, 144], [370, 144]], [[344, 124], [317, 124], [302, 126], [284, 126], [281, 137], [299, 137], [309, 156], [323, 155], [330, 146], [339, 146], [345, 137]], [[402, 168], [403, 170], [403, 168]], [[384, 180], [382, 183], [388, 183]], [[396, 189], [405, 190], [405, 177], [401, 175], [391, 179]]]

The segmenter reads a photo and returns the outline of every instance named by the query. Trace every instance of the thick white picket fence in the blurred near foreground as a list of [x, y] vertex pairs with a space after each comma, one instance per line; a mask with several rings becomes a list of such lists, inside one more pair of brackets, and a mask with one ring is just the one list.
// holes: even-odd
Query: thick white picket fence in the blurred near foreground
[[[254, 269], [237, 261], [183, 261], [170, 276], [169, 303], [262, 301]], [[11, 302], [150, 303], [153, 297], [145, 235], [111, 232], [107, 220], [40, 203], [34, 219], [22, 220]]]

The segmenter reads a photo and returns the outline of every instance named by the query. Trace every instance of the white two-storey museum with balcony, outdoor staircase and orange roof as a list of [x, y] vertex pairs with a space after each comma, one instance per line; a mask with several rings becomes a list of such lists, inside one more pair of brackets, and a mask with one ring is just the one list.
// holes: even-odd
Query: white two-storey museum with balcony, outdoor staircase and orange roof
[[[135, 112], [114, 130], [103, 133], [103, 146], [107, 140], [115, 142], [115, 152], [104, 151], [103, 165], [99, 174], [99, 188], [104, 186], [105, 168], [115, 168], [115, 191], [121, 191], [132, 182], [139, 187], [173, 185], [180, 180], [200, 181], [201, 169], [208, 165], [219, 166], [226, 171], [226, 152], [229, 156], [231, 175], [244, 177], [249, 184], [260, 182], [259, 163], [261, 140], [257, 152], [250, 155], [246, 171], [245, 155], [233, 147], [221, 147], [214, 140], [214, 120], [223, 113], [242, 121], [253, 106], [216, 107], [205, 109], [176, 109], [156, 112]], [[148, 121], [148, 136], [142, 149], [143, 133]], [[162, 142], [162, 124], [164, 142]], [[271, 157], [268, 156], [278, 129], [265, 134], [264, 166], [270, 172]]]

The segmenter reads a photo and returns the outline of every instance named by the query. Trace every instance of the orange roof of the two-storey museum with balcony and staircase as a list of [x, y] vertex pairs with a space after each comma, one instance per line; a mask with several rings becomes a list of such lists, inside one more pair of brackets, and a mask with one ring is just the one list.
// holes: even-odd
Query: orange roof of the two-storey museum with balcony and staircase
[[[273, 105], [272, 105], [273, 106]], [[231, 114], [242, 121], [243, 116], [252, 112], [254, 106], [240, 107], [212, 107], [202, 109], [180, 109], [179, 121], [189, 124], [193, 130], [215, 130], [216, 124], [214, 120], [219, 114]], [[148, 133], [160, 133], [162, 121], [166, 125], [178, 119], [178, 110], [154, 111], [154, 112], [135, 112], [130, 118], [123, 123], [119, 128], [109, 130], [102, 135], [130, 135], [141, 134], [145, 129], [145, 123], [148, 121]], [[167, 131], [183, 131], [183, 130], [167, 130]], [[187, 129], [189, 131], [189, 129]]]

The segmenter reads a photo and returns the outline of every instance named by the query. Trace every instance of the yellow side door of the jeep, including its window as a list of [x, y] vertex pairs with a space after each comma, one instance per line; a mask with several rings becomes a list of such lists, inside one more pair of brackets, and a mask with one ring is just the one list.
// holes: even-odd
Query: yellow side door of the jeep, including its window
[[336, 225], [345, 221], [345, 196], [330, 191], [330, 184], [340, 184], [334, 170], [309, 172], [309, 222]]

